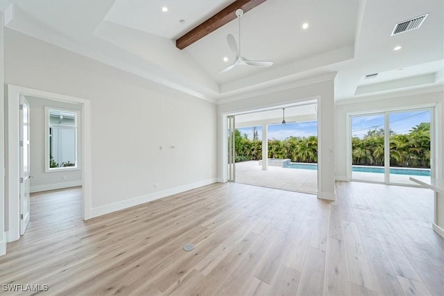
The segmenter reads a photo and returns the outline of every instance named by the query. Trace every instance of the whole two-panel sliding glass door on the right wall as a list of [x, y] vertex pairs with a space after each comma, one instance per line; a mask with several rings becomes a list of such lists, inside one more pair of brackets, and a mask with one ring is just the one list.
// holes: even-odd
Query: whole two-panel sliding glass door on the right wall
[[416, 184], [430, 180], [432, 108], [350, 117], [352, 180]]

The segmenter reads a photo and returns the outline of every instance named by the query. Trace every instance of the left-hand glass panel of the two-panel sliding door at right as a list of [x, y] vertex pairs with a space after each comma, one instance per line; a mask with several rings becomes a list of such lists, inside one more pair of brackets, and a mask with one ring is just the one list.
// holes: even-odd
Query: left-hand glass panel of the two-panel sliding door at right
[[351, 116], [352, 180], [385, 182], [384, 114]]

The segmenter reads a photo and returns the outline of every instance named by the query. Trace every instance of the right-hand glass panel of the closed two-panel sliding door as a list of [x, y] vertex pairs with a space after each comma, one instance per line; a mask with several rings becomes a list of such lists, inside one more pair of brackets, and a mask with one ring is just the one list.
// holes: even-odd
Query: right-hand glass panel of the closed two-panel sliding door
[[413, 184], [410, 177], [430, 181], [431, 110], [388, 113], [390, 183]]

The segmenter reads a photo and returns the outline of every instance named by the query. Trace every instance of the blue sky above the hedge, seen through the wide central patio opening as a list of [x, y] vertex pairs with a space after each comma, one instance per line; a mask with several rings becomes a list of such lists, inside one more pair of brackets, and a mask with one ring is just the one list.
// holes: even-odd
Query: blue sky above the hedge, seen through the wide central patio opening
[[[262, 128], [256, 127], [259, 139], [262, 139]], [[238, 128], [242, 137], [247, 134], [248, 139], [253, 139], [253, 126], [250, 128]], [[305, 121], [298, 123], [272, 124], [268, 125], [268, 139], [283, 140], [288, 137], [316, 136], [318, 130], [317, 121]]]

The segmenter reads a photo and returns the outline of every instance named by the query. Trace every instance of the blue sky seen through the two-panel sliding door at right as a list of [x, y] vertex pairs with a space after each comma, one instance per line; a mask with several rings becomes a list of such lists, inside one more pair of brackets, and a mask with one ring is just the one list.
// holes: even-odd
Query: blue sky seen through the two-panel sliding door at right
[[[428, 110], [393, 112], [389, 116], [390, 129], [396, 134], [408, 134], [411, 128], [430, 122]], [[368, 130], [384, 128], [384, 114], [352, 116], [352, 135], [363, 138]]]

